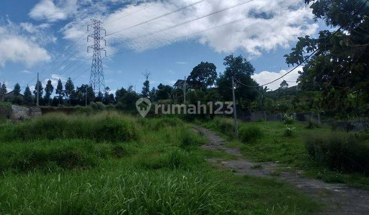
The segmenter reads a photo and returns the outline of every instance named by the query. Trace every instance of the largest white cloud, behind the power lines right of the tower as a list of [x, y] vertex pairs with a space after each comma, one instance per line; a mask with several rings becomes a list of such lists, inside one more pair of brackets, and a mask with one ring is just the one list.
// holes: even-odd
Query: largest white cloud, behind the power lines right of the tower
[[[104, 27], [109, 34], [145, 22], [146, 20], [171, 12], [193, 2], [194, 1], [189, 0], [169, 0], [168, 2], [159, 3], [132, 4], [110, 14], [104, 20], [107, 23]], [[108, 36], [108, 43], [113, 44], [115, 41], [124, 41], [125, 39], [155, 32], [159, 29], [170, 27], [237, 3], [239, 3], [237, 0], [206, 1], [181, 12], [156, 19], [148, 24]], [[194, 32], [232, 22], [233, 20], [270, 11], [290, 3], [292, 3], [291, 0], [253, 1], [162, 33], [131, 41], [128, 44], [124, 44], [124, 46], [127, 49], [137, 50], [157, 48], [175, 42], [173, 38], [183, 37]], [[152, 6], [146, 8], [144, 11], [133, 13], [125, 18], [116, 20], [120, 16], [134, 12], [139, 8], [147, 7], [147, 5], [150, 4], [152, 4]], [[69, 27], [68, 31], [65, 31], [66, 37], [69, 37], [70, 33], [73, 34], [74, 31], [80, 29], [81, 26], [74, 23]], [[233, 52], [237, 49], [241, 49], [248, 52], [250, 56], [257, 57], [260, 56], [263, 51], [275, 50], [278, 47], [288, 48], [289, 43], [295, 41], [296, 37], [314, 34], [317, 28], [318, 25], [312, 22], [311, 9], [304, 4], [300, 4], [291, 8], [285, 7], [280, 10], [265, 13], [263, 16], [251, 17], [242, 22], [216, 30], [196, 34], [189, 39], [196, 39], [201, 44], [209, 45], [217, 52]], [[183, 39], [186, 38], [179, 40]], [[114, 52], [115, 50], [109, 51]]]

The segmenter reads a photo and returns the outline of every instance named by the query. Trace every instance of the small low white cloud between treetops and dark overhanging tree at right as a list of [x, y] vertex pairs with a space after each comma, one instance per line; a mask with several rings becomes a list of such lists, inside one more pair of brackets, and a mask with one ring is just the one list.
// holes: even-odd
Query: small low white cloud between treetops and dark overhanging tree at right
[[[288, 70], [291, 71], [291, 70]], [[285, 75], [287, 72], [287, 70], [281, 70], [279, 72], [269, 72], [269, 71], [262, 71], [258, 74], [254, 74], [253, 76], [251, 76], [254, 80], [256, 80], [256, 82], [258, 82], [259, 84], [265, 84], [265, 83], [269, 83], [277, 78], [280, 78], [282, 75]], [[289, 73], [288, 75], [284, 76], [283, 78], [268, 84], [267, 87], [271, 90], [277, 90], [280, 87], [280, 83], [283, 80], [289, 81], [289, 87], [293, 87], [295, 85], [297, 85], [296, 80], [299, 77], [298, 71], [302, 71], [302, 66], [298, 67], [296, 70], [292, 71], [291, 73]]]

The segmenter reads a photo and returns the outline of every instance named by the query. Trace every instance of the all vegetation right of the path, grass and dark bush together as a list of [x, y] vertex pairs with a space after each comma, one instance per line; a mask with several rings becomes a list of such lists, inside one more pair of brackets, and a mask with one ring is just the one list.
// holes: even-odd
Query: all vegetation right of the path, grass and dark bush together
[[[309, 121], [295, 122], [293, 127], [286, 127], [284, 122], [239, 121], [240, 141], [235, 141], [231, 121], [215, 118], [198, 123], [228, 137], [231, 140], [229, 146], [240, 148], [248, 159], [277, 162], [288, 169], [304, 169], [308, 177], [369, 189], [368, 161], [365, 156], [369, 137], [366, 133], [332, 133], [330, 127], [321, 126], [320, 123], [319, 126], [314, 124], [314, 129], [311, 129]], [[229, 130], [219, 129], [224, 126], [230, 126]], [[260, 130], [264, 135], [260, 135]]]

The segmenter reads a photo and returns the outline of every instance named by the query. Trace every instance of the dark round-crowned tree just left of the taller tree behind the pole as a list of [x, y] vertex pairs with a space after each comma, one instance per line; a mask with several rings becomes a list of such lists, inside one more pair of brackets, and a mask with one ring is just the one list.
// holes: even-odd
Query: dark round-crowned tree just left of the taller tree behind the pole
[[206, 89], [214, 85], [217, 78], [216, 66], [210, 62], [200, 62], [193, 68], [188, 83], [194, 89]]

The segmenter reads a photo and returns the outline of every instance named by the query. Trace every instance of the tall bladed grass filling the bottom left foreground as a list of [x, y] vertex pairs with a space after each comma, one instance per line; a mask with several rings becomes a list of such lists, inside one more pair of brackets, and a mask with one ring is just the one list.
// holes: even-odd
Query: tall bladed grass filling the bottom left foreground
[[[219, 206], [216, 184], [191, 174], [98, 169], [71, 174], [9, 177], [0, 211], [27, 214], [206, 214]], [[16, 189], [14, 189], [16, 187]]]

